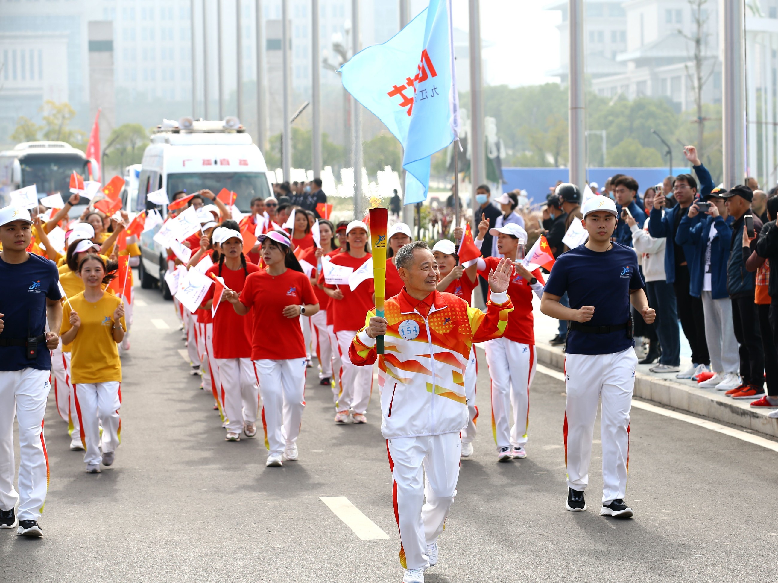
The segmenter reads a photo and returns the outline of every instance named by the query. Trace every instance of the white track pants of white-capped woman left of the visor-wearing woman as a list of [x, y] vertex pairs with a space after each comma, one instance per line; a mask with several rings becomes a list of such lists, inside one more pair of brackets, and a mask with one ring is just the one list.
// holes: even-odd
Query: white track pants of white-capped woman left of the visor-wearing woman
[[249, 358], [217, 358], [227, 431], [239, 434], [244, 423], [257, 423], [259, 391]]

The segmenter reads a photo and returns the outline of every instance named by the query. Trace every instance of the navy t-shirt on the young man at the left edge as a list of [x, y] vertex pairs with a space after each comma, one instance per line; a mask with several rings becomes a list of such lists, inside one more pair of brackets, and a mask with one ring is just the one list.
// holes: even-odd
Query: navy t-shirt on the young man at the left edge
[[[0, 314], [5, 328], [0, 339], [26, 339], [46, 332], [46, 298], [59, 300], [57, 265], [40, 255], [29, 254], [24, 263], [6, 263], [0, 258]], [[53, 332], [59, 333], [59, 330]], [[36, 360], [28, 360], [24, 346], [0, 346], [0, 371], [23, 368], [51, 371], [51, 353], [38, 344]]]

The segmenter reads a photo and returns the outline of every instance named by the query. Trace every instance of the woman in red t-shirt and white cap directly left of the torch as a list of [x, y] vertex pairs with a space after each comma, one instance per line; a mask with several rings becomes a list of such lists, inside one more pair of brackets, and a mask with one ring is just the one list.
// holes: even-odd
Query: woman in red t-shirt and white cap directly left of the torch
[[[346, 227], [348, 243], [346, 252], [338, 253], [331, 259], [332, 265], [342, 265], [355, 272], [370, 255], [367, 248], [367, 225], [360, 220], [352, 220]], [[324, 281], [324, 274], [319, 282]], [[375, 300], [373, 298], [373, 278], [359, 283], [352, 291], [349, 283], [326, 283], [324, 292], [331, 297], [332, 328], [338, 340], [342, 360], [340, 375], [340, 395], [335, 404], [335, 423], [348, 423], [349, 411], [353, 412], [353, 423], [367, 423], [365, 413], [373, 390], [373, 367], [357, 367], [349, 359], [349, 346], [359, 328], [365, 325], [365, 317]]]

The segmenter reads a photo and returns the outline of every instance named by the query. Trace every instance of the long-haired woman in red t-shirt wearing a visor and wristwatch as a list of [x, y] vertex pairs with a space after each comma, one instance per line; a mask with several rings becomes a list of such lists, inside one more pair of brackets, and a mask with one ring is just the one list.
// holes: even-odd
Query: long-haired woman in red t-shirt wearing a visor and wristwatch
[[297, 436], [305, 407], [305, 346], [299, 318], [319, 310], [310, 281], [286, 234], [260, 235], [265, 269], [251, 274], [240, 296], [224, 291], [237, 314], [254, 310], [251, 360], [262, 394], [262, 423], [268, 466], [296, 460]]

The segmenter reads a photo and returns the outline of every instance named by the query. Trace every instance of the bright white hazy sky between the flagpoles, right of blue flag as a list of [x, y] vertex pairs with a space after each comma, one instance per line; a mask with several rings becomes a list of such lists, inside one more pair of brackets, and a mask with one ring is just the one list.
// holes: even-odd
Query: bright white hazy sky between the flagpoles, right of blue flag
[[[481, 38], [493, 46], [482, 51], [485, 83], [537, 85], [559, 66], [559, 11], [544, 10], [550, 0], [481, 0]], [[427, 5], [412, 0], [412, 12]], [[468, 30], [468, 0], [453, 0], [454, 26]]]

